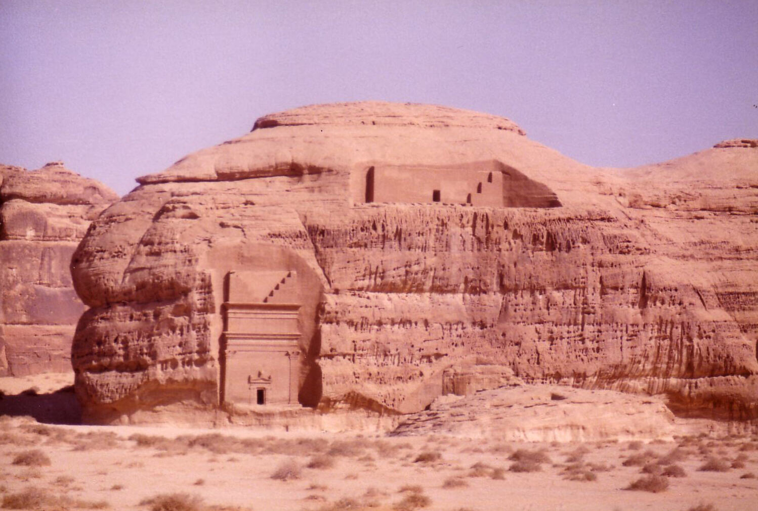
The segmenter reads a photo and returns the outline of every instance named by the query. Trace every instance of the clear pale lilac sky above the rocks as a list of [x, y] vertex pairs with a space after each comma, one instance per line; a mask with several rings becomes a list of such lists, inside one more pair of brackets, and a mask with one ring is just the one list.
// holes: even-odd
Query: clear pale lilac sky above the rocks
[[755, 0], [0, 0], [0, 162], [134, 179], [336, 101], [496, 114], [582, 163], [758, 138]]

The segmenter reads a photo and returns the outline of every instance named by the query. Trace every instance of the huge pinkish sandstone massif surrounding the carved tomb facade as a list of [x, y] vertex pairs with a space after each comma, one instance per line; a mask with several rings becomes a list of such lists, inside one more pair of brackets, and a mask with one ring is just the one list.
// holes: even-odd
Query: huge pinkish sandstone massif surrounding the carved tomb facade
[[138, 181], [72, 261], [89, 422], [249, 412], [225, 399], [230, 272], [296, 274], [299, 402], [318, 413], [518, 380], [758, 417], [754, 141], [600, 169], [502, 117], [329, 104]]

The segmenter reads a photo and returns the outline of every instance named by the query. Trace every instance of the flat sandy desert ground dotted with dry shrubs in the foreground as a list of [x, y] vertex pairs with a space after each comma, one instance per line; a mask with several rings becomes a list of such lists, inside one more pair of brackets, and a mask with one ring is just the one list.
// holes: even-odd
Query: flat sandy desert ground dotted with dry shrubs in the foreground
[[[61, 382], [52, 378], [50, 386]], [[758, 505], [758, 435], [537, 443], [497, 435], [46, 425], [0, 416], [0, 467], [4, 509]]]

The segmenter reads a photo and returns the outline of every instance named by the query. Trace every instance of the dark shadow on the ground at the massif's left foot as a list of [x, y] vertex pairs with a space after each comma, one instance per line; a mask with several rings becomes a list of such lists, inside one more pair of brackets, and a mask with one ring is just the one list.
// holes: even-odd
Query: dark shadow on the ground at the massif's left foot
[[74, 385], [49, 394], [33, 390], [0, 395], [0, 415], [30, 416], [45, 424], [81, 424], [82, 409]]

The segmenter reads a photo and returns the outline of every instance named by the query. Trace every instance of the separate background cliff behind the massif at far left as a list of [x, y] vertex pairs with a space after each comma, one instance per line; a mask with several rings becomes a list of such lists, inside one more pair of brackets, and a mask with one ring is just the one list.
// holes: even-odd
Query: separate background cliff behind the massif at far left
[[0, 375], [71, 370], [71, 339], [85, 310], [70, 279], [71, 254], [117, 195], [47, 164], [0, 165]]

